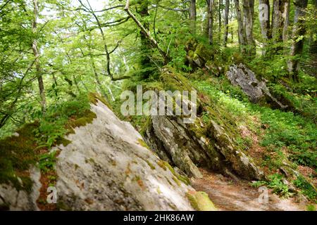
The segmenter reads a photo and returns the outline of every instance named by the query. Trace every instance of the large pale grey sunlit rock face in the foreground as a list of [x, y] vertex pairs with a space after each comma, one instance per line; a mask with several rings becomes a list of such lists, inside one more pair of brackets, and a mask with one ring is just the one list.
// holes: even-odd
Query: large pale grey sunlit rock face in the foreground
[[186, 193], [142, 136], [106, 105], [92, 105], [92, 124], [75, 129], [58, 146], [58, 203], [65, 210], [193, 210]]

